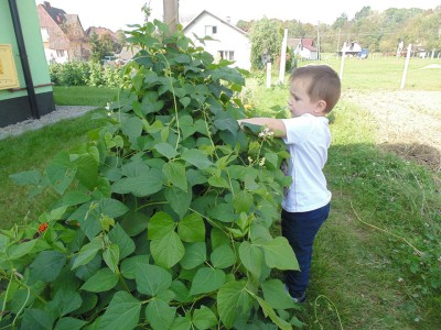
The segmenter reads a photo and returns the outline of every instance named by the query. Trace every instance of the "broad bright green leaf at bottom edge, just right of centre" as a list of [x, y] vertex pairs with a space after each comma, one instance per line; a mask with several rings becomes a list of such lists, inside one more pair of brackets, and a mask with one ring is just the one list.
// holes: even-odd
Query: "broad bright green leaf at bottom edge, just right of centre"
[[217, 293], [217, 311], [224, 326], [233, 328], [239, 316], [249, 314], [252, 299], [246, 289], [247, 282], [228, 282]]

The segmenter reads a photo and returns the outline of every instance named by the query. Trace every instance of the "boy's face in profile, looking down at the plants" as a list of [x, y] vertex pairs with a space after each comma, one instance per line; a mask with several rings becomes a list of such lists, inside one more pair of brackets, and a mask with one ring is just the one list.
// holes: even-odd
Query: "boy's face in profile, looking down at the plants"
[[293, 79], [290, 84], [290, 96], [288, 100], [288, 108], [292, 117], [300, 117], [304, 113], [313, 116], [323, 116], [318, 112], [320, 110], [320, 101], [312, 101], [308, 95], [310, 81], [305, 79]]

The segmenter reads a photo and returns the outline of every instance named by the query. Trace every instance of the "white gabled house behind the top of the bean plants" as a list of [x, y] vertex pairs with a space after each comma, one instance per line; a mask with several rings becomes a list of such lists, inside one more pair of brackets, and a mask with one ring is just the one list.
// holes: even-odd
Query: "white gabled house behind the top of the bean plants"
[[213, 41], [205, 41], [205, 51], [214, 58], [234, 61], [234, 66], [249, 70], [251, 68], [251, 43], [245, 31], [232, 25], [204, 10], [185, 28], [184, 34], [200, 44], [194, 36], [211, 36]]

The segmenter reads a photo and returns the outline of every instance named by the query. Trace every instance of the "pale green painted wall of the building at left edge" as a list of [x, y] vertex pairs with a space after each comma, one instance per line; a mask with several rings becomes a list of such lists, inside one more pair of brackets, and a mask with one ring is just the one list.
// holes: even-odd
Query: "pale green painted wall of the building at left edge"
[[[44, 56], [40, 22], [36, 14], [35, 0], [15, 0], [19, 9], [20, 22], [23, 31], [24, 44], [28, 53], [28, 61], [31, 67], [32, 80], [34, 86], [49, 84], [47, 62]], [[15, 33], [12, 24], [11, 12], [8, 0], [0, 0], [0, 44], [11, 44], [20, 87], [25, 87], [23, 69], [19, 56]], [[35, 88], [35, 94], [51, 92], [52, 87]], [[11, 92], [0, 90], [0, 100], [26, 96], [26, 91]]]

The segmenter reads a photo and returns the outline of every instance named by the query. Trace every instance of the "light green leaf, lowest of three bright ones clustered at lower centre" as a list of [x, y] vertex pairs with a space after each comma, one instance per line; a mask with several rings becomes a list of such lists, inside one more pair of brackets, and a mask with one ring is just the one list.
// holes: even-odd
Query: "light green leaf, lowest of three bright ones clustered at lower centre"
[[174, 231], [169, 232], [160, 240], [152, 240], [150, 251], [154, 262], [164, 268], [173, 267], [185, 254], [184, 245]]

